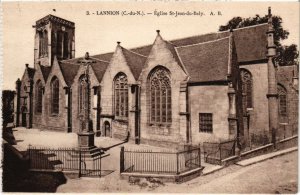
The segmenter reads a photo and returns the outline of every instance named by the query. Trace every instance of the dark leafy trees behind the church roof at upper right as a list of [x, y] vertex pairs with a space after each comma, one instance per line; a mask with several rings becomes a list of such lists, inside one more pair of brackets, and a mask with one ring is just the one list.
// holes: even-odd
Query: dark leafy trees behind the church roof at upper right
[[[241, 18], [241, 17], [234, 17], [228, 21], [226, 25], [221, 25], [219, 27], [219, 31], [226, 31], [230, 28], [242, 28], [246, 26], [253, 26], [257, 24], [267, 23], [268, 22], [268, 15], [261, 17], [256, 15], [255, 17], [249, 18]], [[275, 61], [280, 66], [289, 66], [293, 64], [298, 65], [297, 58], [299, 56], [299, 52], [297, 50], [297, 45], [289, 45], [283, 46], [281, 45], [281, 41], [287, 39], [289, 36], [289, 32], [282, 28], [282, 18], [280, 16], [272, 16], [272, 24], [275, 30], [274, 33], [274, 43], [277, 46], [277, 53], [278, 55], [275, 57]]]

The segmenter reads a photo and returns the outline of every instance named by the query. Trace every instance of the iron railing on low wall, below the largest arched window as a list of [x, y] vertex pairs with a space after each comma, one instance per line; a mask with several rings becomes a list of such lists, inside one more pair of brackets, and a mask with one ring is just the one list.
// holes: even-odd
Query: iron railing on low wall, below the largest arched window
[[200, 148], [179, 152], [121, 148], [120, 172], [180, 174], [201, 167]]

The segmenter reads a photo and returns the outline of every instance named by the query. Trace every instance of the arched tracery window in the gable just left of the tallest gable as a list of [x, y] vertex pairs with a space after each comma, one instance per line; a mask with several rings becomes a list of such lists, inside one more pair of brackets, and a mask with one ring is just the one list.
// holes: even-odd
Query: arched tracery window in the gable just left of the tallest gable
[[119, 73], [114, 79], [115, 115], [128, 117], [128, 81], [124, 73]]

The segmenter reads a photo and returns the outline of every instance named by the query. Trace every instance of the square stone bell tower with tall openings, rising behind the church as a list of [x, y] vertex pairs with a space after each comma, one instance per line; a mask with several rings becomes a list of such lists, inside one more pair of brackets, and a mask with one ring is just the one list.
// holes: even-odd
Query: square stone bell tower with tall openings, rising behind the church
[[34, 67], [51, 66], [54, 56], [58, 60], [75, 57], [75, 24], [47, 15], [36, 21], [34, 41]]

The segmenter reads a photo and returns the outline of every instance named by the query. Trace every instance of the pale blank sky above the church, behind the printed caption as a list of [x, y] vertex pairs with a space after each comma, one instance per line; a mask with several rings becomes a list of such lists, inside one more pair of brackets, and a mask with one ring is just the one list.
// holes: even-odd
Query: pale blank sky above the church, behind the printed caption
[[[4, 2], [2, 4], [2, 89], [15, 89], [25, 64], [33, 67], [35, 21], [52, 14], [75, 22], [75, 57], [112, 52], [117, 41], [125, 48], [152, 44], [156, 30], [165, 40], [216, 32], [232, 17], [281, 16], [290, 32], [283, 44], [299, 45], [298, 2]], [[56, 11], [54, 12], [53, 9]], [[146, 15], [96, 15], [100, 11], [141, 11]], [[177, 16], [170, 12], [201, 12], [202, 16]], [[87, 15], [87, 12], [90, 15]], [[167, 15], [155, 13], [167, 12]], [[213, 12], [214, 15], [211, 15]], [[92, 14], [95, 13], [95, 14]], [[151, 13], [151, 14], [147, 14]], [[221, 14], [218, 14], [221, 13]]]

